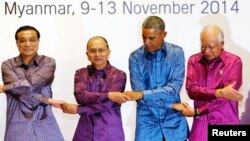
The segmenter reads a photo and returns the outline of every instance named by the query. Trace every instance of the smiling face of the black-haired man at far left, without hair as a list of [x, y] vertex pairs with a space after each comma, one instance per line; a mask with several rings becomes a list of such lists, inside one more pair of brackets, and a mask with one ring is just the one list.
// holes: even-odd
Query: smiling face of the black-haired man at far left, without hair
[[16, 44], [23, 59], [35, 57], [39, 46], [37, 33], [34, 30], [20, 31], [17, 34]]

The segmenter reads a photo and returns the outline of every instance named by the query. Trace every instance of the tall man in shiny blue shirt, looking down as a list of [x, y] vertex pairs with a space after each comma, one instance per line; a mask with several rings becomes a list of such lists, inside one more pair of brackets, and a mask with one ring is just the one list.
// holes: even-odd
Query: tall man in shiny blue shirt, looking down
[[133, 92], [137, 101], [136, 141], [187, 140], [186, 118], [174, 110], [180, 103], [185, 75], [185, 58], [181, 47], [165, 42], [164, 21], [149, 16], [142, 24], [143, 43], [129, 57]]

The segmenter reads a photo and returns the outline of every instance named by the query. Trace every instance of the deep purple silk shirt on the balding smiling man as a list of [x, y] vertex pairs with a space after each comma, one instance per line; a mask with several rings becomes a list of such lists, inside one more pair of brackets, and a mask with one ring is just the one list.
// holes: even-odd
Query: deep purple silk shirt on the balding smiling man
[[124, 141], [120, 105], [108, 92], [125, 89], [126, 74], [108, 65], [102, 71], [89, 65], [75, 73], [74, 95], [80, 119], [73, 141]]

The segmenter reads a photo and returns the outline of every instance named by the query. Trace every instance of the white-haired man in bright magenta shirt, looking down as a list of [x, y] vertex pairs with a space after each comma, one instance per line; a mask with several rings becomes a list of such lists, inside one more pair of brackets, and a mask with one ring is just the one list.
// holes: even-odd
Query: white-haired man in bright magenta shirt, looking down
[[238, 91], [242, 85], [240, 57], [224, 50], [224, 35], [208, 25], [201, 34], [201, 52], [188, 60], [186, 90], [194, 109], [183, 103], [182, 113], [194, 116], [189, 141], [207, 141], [208, 125], [239, 124]]

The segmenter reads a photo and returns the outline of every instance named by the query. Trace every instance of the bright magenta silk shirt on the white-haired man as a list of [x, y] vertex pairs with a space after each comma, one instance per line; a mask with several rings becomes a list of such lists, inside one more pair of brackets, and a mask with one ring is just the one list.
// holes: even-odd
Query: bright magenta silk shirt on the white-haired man
[[236, 81], [234, 88], [242, 85], [240, 57], [222, 51], [208, 63], [201, 53], [192, 55], [187, 65], [186, 90], [200, 116], [194, 117], [189, 141], [207, 141], [208, 125], [239, 124], [238, 102], [216, 98], [215, 91]]

